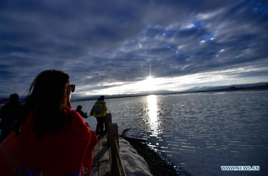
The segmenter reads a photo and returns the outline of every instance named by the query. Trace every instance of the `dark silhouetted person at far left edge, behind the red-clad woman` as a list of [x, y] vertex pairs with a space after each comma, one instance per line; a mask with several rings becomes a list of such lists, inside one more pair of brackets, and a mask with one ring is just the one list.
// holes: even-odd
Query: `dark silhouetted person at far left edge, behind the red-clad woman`
[[21, 102], [18, 101], [18, 94], [14, 93], [9, 96], [9, 102], [1, 107], [0, 118], [0, 143], [10, 134], [13, 123], [18, 119]]

